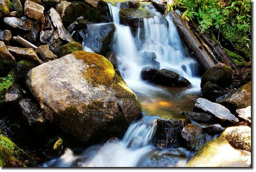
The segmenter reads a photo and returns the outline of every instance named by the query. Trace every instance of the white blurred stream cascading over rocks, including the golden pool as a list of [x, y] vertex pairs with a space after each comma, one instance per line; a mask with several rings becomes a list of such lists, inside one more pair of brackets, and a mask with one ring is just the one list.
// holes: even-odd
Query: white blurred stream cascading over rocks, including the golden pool
[[[192, 111], [194, 98], [201, 95], [199, 64], [182, 42], [170, 16], [163, 17], [153, 5], [141, 3], [140, 8], [147, 10], [153, 17], [144, 18], [143, 28], [138, 28], [136, 33], [120, 24], [120, 3], [109, 3], [109, 8], [109, 16], [116, 27], [113, 51], [117, 53], [118, 69], [136, 93], [145, 116], [134, 121], [121, 140], [93, 145], [78, 155], [68, 149], [62, 157], [45, 162], [42, 166], [184, 167], [194, 153], [188, 151], [184, 143], [175, 143], [165, 149], [155, 147], [156, 119], [190, 120], [182, 116], [181, 111]], [[83, 42], [85, 51], [94, 51], [91, 39], [99, 25], [87, 26], [87, 38]], [[192, 86], [174, 88], [145, 82], [140, 78], [140, 72], [147, 66], [175, 71], [188, 79]]]

